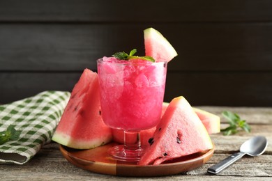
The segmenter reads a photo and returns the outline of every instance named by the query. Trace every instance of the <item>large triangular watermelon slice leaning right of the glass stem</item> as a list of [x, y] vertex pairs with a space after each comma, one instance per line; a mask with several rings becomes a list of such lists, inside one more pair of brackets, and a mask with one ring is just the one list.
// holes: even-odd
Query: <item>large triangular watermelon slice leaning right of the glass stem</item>
[[182, 96], [170, 102], [149, 143], [139, 165], [161, 164], [213, 148], [206, 128]]

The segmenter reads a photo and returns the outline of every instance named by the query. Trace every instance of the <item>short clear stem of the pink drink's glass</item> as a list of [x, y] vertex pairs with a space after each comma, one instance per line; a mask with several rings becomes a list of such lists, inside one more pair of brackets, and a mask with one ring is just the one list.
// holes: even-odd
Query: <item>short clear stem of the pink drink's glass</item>
[[141, 139], [139, 132], [124, 131], [123, 144], [125, 150], [141, 150]]

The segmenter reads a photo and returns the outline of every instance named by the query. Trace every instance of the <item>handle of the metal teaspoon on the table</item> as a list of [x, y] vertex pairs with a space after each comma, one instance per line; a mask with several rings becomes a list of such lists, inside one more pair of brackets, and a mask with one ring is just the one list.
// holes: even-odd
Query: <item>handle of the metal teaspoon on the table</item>
[[243, 155], [245, 155], [244, 152], [236, 152], [233, 155], [230, 155], [229, 157], [223, 159], [218, 164], [215, 164], [211, 166], [210, 168], [208, 168], [208, 173], [213, 173], [213, 174], [220, 173], [220, 171], [227, 168], [227, 166], [230, 166], [231, 164], [236, 162], [238, 159], [241, 159]]

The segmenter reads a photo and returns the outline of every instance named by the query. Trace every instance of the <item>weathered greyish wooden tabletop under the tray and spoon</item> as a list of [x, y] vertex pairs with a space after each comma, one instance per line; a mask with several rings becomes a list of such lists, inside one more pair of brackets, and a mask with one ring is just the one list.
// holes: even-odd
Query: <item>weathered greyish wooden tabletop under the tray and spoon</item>
[[[203, 166], [177, 175], [140, 180], [272, 180], [272, 108], [245, 107], [199, 107], [220, 116], [222, 111], [238, 113], [252, 127], [251, 133], [240, 132], [234, 136], [213, 134], [211, 139], [216, 145], [213, 157]], [[221, 117], [222, 118], [222, 117]], [[225, 120], [221, 120], [225, 127]], [[243, 141], [252, 136], [266, 136], [269, 145], [263, 155], [250, 157], [245, 155], [218, 175], [206, 172], [209, 166], [220, 162], [234, 152], [239, 151]], [[59, 151], [57, 143], [44, 145], [38, 154], [27, 164], [0, 164], [1, 180], [138, 180], [85, 171], [70, 164]]]

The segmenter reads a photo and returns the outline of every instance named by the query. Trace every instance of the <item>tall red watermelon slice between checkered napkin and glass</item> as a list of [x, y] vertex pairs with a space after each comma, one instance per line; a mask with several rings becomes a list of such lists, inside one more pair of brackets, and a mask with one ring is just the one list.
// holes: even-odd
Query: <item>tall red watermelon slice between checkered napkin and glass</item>
[[100, 116], [98, 74], [85, 69], [63, 111], [53, 141], [70, 148], [89, 149], [112, 140]]

